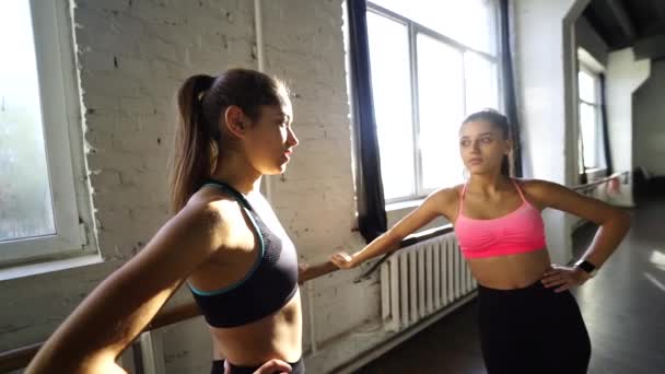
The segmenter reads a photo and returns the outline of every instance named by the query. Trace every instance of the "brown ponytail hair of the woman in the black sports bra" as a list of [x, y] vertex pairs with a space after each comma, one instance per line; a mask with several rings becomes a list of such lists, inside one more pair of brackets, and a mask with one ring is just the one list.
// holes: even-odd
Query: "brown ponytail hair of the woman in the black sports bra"
[[179, 121], [171, 175], [171, 210], [177, 213], [210, 176], [214, 150], [230, 141], [220, 116], [235, 105], [253, 121], [264, 105], [280, 105], [287, 93], [278, 80], [261, 72], [231, 69], [218, 77], [189, 77], [177, 94]]

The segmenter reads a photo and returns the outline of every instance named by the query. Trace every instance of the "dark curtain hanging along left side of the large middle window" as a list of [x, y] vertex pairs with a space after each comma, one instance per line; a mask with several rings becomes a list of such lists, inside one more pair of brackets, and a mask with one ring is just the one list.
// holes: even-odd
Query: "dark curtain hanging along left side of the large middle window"
[[358, 157], [357, 200], [358, 225], [369, 243], [387, 230], [381, 159], [374, 103], [368, 36], [366, 2], [349, 0], [349, 55], [351, 59], [351, 95], [355, 117], [355, 148]]

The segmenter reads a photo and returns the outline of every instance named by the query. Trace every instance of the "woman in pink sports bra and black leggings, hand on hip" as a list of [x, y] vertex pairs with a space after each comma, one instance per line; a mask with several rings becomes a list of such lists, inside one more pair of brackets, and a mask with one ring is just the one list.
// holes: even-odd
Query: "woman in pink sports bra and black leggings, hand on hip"
[[[443, 215], [453, 223], [479, 283], [478, 323], [488, 372], [586, 373], [591, 342], [569, 289], [587, 281], [603, 266], [626, 235], [630, 218], [553, 183], [511, 178], [509, 129], [506, 117], [495, 110], [468, 116], [459, 130], [468, 180], [432, 192], [363, 249], [353, 255], [338, 253], [331, 261], [343, 269], [355, 267], [395, 250], [407, 235]], [[599, 225], [575, 266], [551, 264], [540, 217], [546, 208]]]

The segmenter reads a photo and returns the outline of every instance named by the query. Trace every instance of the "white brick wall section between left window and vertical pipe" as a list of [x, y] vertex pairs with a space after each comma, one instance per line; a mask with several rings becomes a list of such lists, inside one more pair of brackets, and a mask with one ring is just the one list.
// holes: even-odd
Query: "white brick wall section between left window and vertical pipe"
[[[167, 219], [166, 160], [179, 83], [195, 72], [256, 67], [252, 2], [162, 3], [77, 1], [85, 159], [104, 261], [0, 282], [0, 350], [45, 340]], [[189, 300], [180, 292], [172, 304]], [[182, 372], [178, 362], [187, 360], [209, 365], [210, 338], [200, 320], [192, 324], [192, 334], [165, 336], [171, 372]]]

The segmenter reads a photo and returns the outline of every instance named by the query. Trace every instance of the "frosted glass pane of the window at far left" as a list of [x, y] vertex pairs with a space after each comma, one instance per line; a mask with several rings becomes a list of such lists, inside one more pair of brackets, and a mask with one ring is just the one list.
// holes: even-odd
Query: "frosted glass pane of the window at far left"
[[28, 1], [0, 4], [0, 241], [56, 233]]

